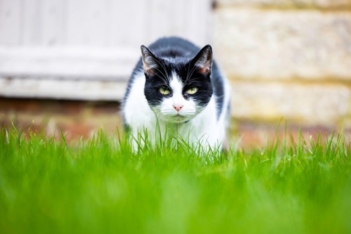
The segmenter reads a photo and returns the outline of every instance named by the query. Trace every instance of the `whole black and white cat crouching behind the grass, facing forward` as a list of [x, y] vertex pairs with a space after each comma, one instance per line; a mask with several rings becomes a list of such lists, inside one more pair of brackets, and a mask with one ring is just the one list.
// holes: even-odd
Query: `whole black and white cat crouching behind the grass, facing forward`
[[185, 39], [166, 37], [141, 46], [141, 56], [122, 103], [132, 138], [147, 131], [155, 142], [167, 132], [191, 145], [222, 148], [230, 90], [212, 60], [211, 46], [200, 49]]

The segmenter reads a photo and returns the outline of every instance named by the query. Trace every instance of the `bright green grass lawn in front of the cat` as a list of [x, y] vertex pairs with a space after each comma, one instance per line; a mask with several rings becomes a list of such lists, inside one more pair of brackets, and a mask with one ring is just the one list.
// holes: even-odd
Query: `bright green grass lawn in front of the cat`
[[[1, 233], [351, 233], [351, 148], [278, 139], [200, 156], [0, 134]], [[306, 142], [307, 141], [307, 142]]]

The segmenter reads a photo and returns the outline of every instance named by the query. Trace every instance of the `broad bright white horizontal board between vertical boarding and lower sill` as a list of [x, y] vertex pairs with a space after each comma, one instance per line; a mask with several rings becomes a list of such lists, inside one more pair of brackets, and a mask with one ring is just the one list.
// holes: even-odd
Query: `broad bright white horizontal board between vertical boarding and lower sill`
[[126, 81], [139, 53], [139, 48], [0, 47], [0, 76]]

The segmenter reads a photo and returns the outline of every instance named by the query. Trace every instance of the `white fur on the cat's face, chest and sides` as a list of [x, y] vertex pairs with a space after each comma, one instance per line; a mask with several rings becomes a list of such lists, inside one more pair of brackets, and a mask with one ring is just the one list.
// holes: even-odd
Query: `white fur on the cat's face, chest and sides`
[[[229, 104], [229, 86], [226, 81], [224, 81], [223, 110], [217, 120], [215, 97], [212, 96], [208, 105], [198, 113], [196, 103], [182, 96], [183, 86], [175, 72], [170, 81], [172, 97], [165, 98], [160, 108], [151, 110], [143, 91], [145, 79], [143, 71], [134, 77], [134, 83], [125, 102], [125, 121], [132, 129], [134, 139], [143, 137], [144, 130], [147, 129], [148, 138], [153, 142], [160, 134], [164, 139], [165, 133], [168, 132], [180, 136], [191, 145], [196, 146], [200, 143], [205, 148], [206, 146], [222, 148], [226, 138], [226, 107]], [[173, 105], [183, 105], [183, 108], [177, 112]], [[134, 141], [135, 150], [136, 147]]]

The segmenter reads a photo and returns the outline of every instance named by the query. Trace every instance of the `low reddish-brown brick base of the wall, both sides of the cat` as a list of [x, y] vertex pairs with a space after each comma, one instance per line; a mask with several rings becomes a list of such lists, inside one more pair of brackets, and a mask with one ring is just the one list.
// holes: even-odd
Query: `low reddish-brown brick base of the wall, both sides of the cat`
[[[106, 101], [0, 98], [0, 128], [12, 125], [20, 131], [44, 133], [57, 139], [61, 138], [62, 131], [67, 141], [76, 143], [81, 138], [91, 138], [99, 129], [110, 136], [117, 136], [117, 129], [122, 133], [120, 106], [117, 102]], [[308, 139], [317, 138], [319, 133], [326, 138], [335, 129], [322, 125], [300, 126], [285, 122], [279, 125], [279, 122], [233, 119], [230, 142], [244, 148], [262, 147], [274, 141], [277, 135], [281, 139], [293, 136], [296, 141], [300, 130]]]

